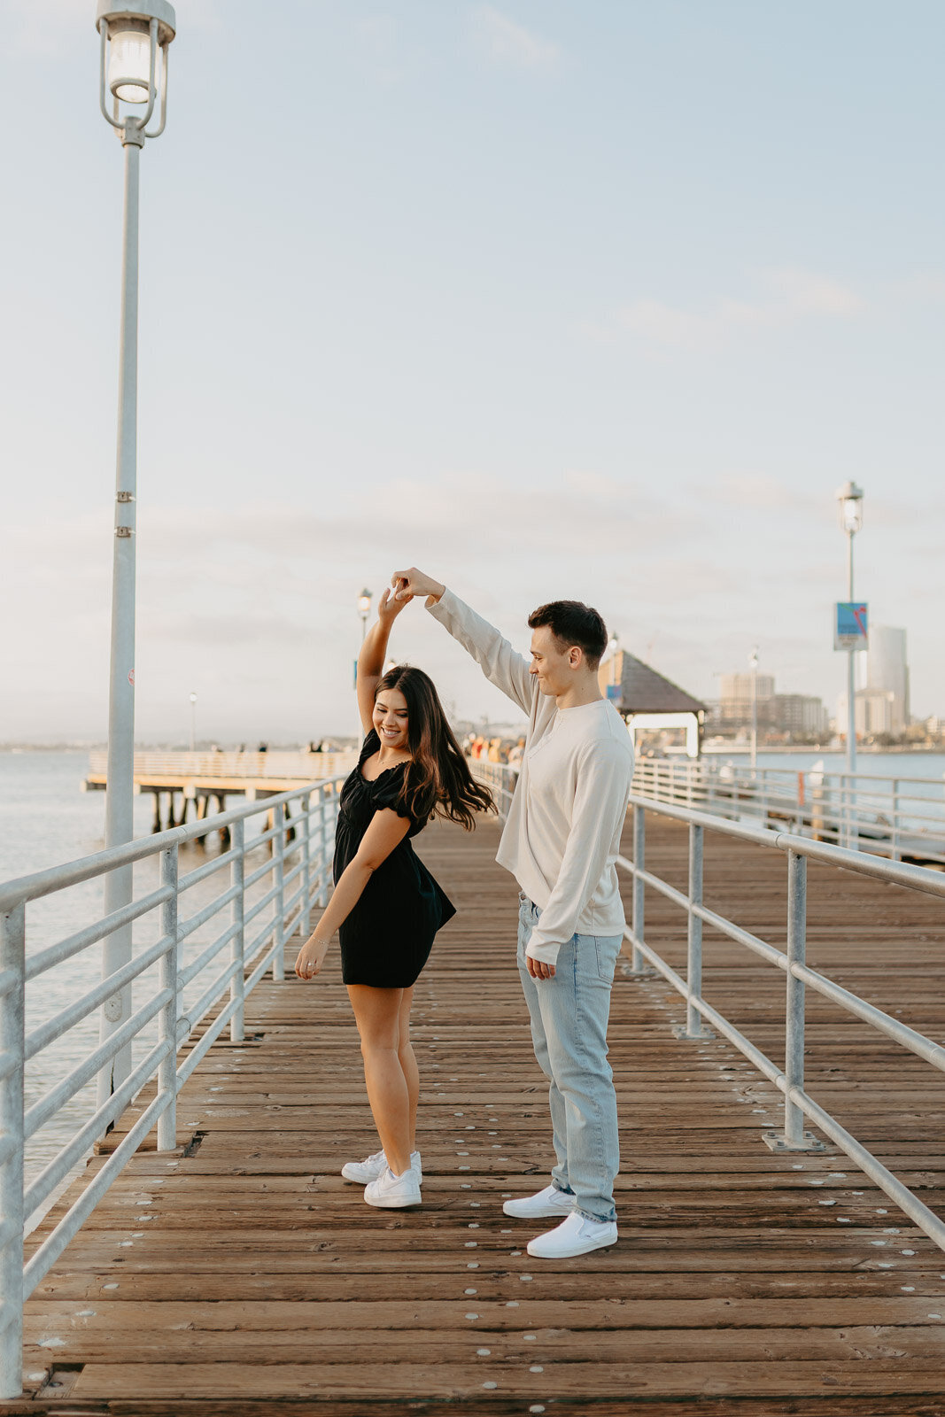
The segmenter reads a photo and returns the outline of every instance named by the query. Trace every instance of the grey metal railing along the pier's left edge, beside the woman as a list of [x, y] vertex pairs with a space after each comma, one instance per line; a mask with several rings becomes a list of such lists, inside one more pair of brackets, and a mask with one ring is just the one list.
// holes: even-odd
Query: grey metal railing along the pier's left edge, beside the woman
[[[266, 971], [272, 971], [275, 981], [283, 978], [286, 939], [296, 927], [307, 931], [313, 903], [324, 903], [327, 896], [339, 786], [340, 779], [309, 782], [262, 802], [244, 803], [190, 826], [0, 886], [0, 1399], [20, 1396], [26, 1298], [152, 1128], [157, 1127], [159, 1151], [176, 1148], [180, 1088], [227, 1024], [231, 1041], [244, 1040], [244, 1002]], [[290, 803], [299, 803], [300, 811], [289, 816]], [[247, 822], [259, 813], [266, 815], [262, 829], [247, 837]], [[225, 829], [230, 830], [230, 849], [180, 874], [180, 847]], [[256, 854], [264, 857], [259, 864]], [[65, 939], [27, 952], [28, 907], [34, 901], [149, 859], [159, 864], [157, 888]], [[187, 893], [218, 871], [228, 871], [225, 888], [203, 908], [184, 914], [181, 905], [188, 908]], [[26, 989], [31, 981], [92, 949], [119, 927], [154, 921], [154, 917], [156, 941], [139, 948], [129, 964], [27, 1032]], [[181, 944], [198, 938], [208, 922], [220, 925], [220, 931], [184, 966]], [[224, 968], [215, 972], [214, 961], [224, 951], [228, 951]], [[89, 965], [95, 968], [98, 956]], [[149, 971], [157, 972], [156, 982], [146, 978]], [[106, 1009], [109, 1000], [135, 979], [149, 985], [149, 992], [135, 1000], [130, 1017], [116, 1032], [103, 1033], [103, 1041], [79, 1063], [71, 1060], [65, 1076], [26, 1110], [27, 1064], [95, 1010]], [[198, 998], [184, 1007], [184, 990], [191, 986], [200, 990]], [[152, 1043], [154, 1024], [157, 1039]], [[201, 1030], [198, 1039], [197, 1030]], [[26, 1144], [96, 1076], [111, 1070], [119, 1050], [136, 1039], [147, 1050], [145, 1057], [27, 1185]], [[191, 1046], [179, 1063], [179, 1050], [187, 1040]], [[24, 1267], [28, 1217], [50, 1200], [92, 1144], [113, 1127], [152, 1080], [157, 1087], [154, 1098]]]

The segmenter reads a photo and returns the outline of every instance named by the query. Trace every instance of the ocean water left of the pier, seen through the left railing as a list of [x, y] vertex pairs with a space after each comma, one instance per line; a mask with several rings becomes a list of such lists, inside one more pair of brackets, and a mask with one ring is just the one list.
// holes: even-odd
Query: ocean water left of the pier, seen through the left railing
[[[81, 782], [88, 769], [88, 754], [74, 751], [16, 752], [0, 751], [0, 880], [10, 880], [50, 866], [89, 856], [105, 847], [105, 794], [82, 792]], [[228, 805], [237, 805], [232, 798]], [[135, 798], [135, 835], [147, 836], [152, 829], [153, 798]], [[259, 830], [264, 818], [254, 818], [249, 829]], [[214, 835], [205, 847], [181, 847], [181, 876], [220, 854]], [[254, 859], [255, 857], [255, 859]], [[268, 849], [247, 859], [247, 869], [269, 860]], [[157, 884], [157, 857], [135, 867], [136, 897]], [[211, 874], [187, 891], [181, 914], [193, 915], [230, 884], [228, 867]], [[247, 893], [248, 901], [261, 898], [272, 884], [266, 873]], [[102, 880], [86, 881], [65, 891], [57, 891], [27, 905], [27, 954], [74, 934], [102, 915]], [[266, 913], [252, 922], [252, 935], [262, 930]], [[228, 915], [211, 920], [184, 942], [181, 962], [186, 965], [225, 928]], [[160, 937], [157, 913], [143, 917], [133, 927], [135, 949]], [[230, 958], [228, 947], [211, 962], [184, 993], [184, 1007], [197, 999]], [[27, 1033], [54, 1017], [67, 1005], [94, 988], [101, 978], [101, 945], [74, 955], [27, 985]], [[140, 975], [133, 986], [133, 1006], [140, 1007], [157, 988], [157, 965]], [[157, 1041], [157, 1020], [139, 1036], [133, 1046], [133, 1061], [139, 1063]], [[37, 1102], [51, 1087], [69, 1073], [98, 1044], [98, 1010], [88, 1015], [57, 1043], [44, 1049], [27, 1064], [26, 1107]], [[38, 1176], [62, 1145], [75, 1135], [82, 1122], [95, 1111], [95, 1084], [82, 1088], [67, 1105], [27, 1142], [27, 1185]], [[75, 1168], [81, 1170], [84, 1162]], [[74, 1173], [75, 1173], [74, 1172]]]

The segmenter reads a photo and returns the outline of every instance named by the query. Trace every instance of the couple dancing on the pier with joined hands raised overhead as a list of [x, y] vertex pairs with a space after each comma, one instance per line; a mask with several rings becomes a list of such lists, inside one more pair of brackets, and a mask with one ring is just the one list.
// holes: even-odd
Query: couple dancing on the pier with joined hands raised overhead
[[432, 680], [409, 665], [383, 673], [391, 626], [417, 597], [486, 677], [528, 716], [519, 784], [497, 860], [519, 881], [519, 973], [536, 1058], [548, 1078], [555, 1166], [536, 1196], [506, 1200], [523, 1220], [558, 1224], [528, 1243], [538, 1258], [568, 1258], [616, 1243], [616, 1097], [606, 1060], [613, 971], [623, 939], [616, 854], [633, 750], [601, 696], [606, 628], [579, 601], [528, 616], [531, 662], [445, 585], [397, 571], [357, 665], [364, 728], [358, 764], [341, 789], [334, 891], [295, 972], [312, 979], [334, 931], [357, 1020], [367, 1095], [381, 1151], [341, 1175], [366, 1183], [371, 1206], [421, 1203], [417, 1148], [419, 1074], [409, 1010], [434, 937], [455, 910], [411, 837], [434, 816], [466, 830], [494, 811], [473, 781]]

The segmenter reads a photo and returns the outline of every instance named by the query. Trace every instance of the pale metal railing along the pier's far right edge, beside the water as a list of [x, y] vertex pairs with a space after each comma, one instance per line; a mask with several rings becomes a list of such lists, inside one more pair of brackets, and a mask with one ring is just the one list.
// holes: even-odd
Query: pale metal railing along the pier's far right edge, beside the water
[[854, 850], [945, 864], [945, 785], [934, 778], [638, 758], [633, 791], [713, 816], [789, 825]]

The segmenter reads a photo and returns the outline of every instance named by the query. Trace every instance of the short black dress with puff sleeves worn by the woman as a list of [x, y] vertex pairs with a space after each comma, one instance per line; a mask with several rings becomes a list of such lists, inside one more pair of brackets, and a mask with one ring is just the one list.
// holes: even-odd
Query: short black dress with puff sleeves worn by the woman
[[[409, 764], [398, 762], [374, 781], [361, 777], [367, 758], [381, 741], [371, 728], [354, 772], [341, 788], [333, 874], [337, 884], [354, 860], [361, 837], [375, 812], [390, 808], [409, 816], [400, 792]], [[368, 880], [361, 898], [341, 925], [341, 978], [344, 983], [368, 983], [375, 989], [408, 989], [429, 958], [434, 935], [456, 910], [443, 890], [414, 854], [411, 837], [425, 822], [411, 818], [411, 828]]]

